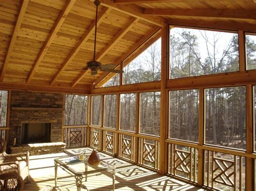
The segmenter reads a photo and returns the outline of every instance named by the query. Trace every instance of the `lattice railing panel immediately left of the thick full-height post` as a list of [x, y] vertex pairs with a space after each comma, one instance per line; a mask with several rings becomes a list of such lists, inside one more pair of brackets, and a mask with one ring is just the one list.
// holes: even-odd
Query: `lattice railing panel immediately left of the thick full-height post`
[[159, 141], [139, 138], [139, 163], [159, 169]]

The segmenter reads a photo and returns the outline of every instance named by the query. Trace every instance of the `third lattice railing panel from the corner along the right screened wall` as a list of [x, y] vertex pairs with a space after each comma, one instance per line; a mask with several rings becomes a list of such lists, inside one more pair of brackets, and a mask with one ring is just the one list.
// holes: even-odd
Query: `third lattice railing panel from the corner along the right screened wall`
[[119, 134], [119, 156], [134, 161], [134, 137]]

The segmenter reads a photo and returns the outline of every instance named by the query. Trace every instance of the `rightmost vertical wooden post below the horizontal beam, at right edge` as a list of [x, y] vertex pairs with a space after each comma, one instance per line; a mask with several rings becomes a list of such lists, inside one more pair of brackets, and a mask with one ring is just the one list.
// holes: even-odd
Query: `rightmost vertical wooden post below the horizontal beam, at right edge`
[[[246, 85], [246, 153], [253, 153], [253, 86]], [[253, 190], [253, 158], [246, 157], [246, 190]]]

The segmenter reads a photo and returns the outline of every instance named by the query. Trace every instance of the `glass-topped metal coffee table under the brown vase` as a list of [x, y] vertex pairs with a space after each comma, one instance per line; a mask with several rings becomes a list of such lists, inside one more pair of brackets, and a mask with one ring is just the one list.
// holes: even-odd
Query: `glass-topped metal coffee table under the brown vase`
[[112, 171], [113, 190], [114, 179], [116, 173], [116, 166], [107, 162], [107, 159], [101, 159], [98, 166], [90, 166], [87, 164], [87, 158], [89, 155], [85, 155], [84, 160], [79, 160], [78, 155], [60, 157], [54, 160], [55, 162], [55, 188], [57, 188], [57, 169], [62, 168], [64, 171], [72, 175], [76, 180], [77, 190], [87, 189], [83, 185], [83, 179], [87, 181], [87, 177], [104, 174]]

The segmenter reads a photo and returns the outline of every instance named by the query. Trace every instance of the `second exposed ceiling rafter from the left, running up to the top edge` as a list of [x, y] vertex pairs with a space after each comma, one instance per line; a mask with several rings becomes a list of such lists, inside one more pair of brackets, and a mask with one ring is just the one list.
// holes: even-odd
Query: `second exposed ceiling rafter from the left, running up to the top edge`
[[55, 25], [52, 27], [51, 33], [49, 34], [48, 38], [46, 39], [43, 48], [41, 49], [40, 53], [37, 56], [37, 59], [35, 63], [33, 64], [29, 75], [26, 79], [26, 83], [29, 83], [32, 80], [33, 75], [36, 72], [36, 69], [38, 68], [39, 64], [44, 58], [44, 55], [48, 51], [48, 48], [50, 47], [53, 39], [56, 37], [57, 32], [59, 31], [60, 27], [62, 26], [64, 20], [66, 19], [66, 16], [68, 16], [70, 10], [72, 9], [73, 4], [75, 4], [76, 0], [69, 0], [68, 3], [66, 3], [62, 13], [60, 13], [60, 16], [55, 23]]

